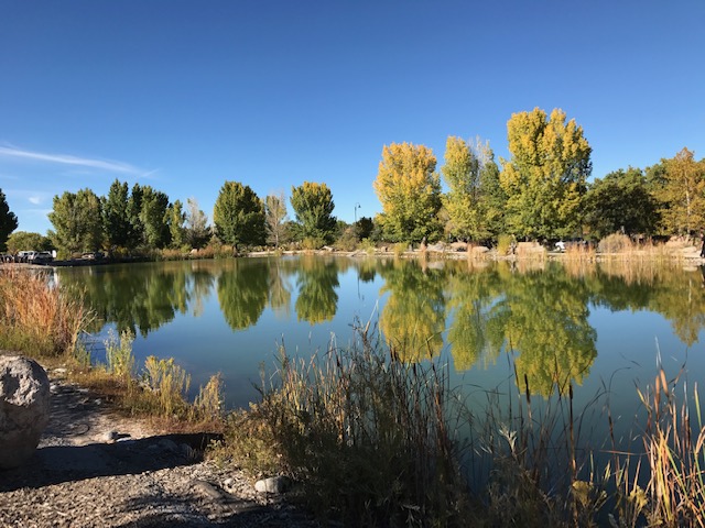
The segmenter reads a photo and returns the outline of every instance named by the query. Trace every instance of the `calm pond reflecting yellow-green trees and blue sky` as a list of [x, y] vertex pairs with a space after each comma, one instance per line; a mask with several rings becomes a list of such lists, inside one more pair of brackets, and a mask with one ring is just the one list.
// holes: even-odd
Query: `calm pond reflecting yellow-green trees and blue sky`
[[228, 407], [257, 398], [261, 365], [274, 370], [279, 345], [300, 356], [332, 339], [345, 346], [356, 321], [402, 344], [404, 361], [447, 358], [452, 386], [470, 397], [516, 391], [516, 365], [532, 394], [571, 382], [577, 405], [608, 394], [614, 415], [633, 415], [636, 384], [652, 383], [659, 356], [670, 375], [705, 377], [704, 272], [679, 264], [311, 255], [56, 273], [98, 315], [97, 360], [108, 329], [132, 329], [138, 361], [175, 358], [195, 391], [223, 373]]

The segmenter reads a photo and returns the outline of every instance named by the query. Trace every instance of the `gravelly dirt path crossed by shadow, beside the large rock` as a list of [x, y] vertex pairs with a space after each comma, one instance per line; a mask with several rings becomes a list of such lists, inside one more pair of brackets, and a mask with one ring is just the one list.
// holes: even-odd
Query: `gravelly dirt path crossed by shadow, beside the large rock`
[[316, 526], [240, 472], [203, 461], [208, 438], [154, 433], [57, 374], [35, 457], [0, 472], [1, 527]]

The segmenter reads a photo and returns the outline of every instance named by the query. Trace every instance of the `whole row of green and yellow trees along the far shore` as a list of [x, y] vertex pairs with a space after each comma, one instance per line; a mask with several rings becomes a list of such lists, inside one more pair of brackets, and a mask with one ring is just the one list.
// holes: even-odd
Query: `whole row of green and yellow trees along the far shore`
[[199, 249], [218, 242], [237, 252], [289, 242], [315, 249], [344, 235], [375, 242], [492, 243], [501, 234], [600, 239], [614, 232], [653, 237], [704, 229], [705, 160], [696, 161], [685, 147], [646, 169], [630, 166], [588, 183], [592, 147], [583, 128], [562, 110], [513, 113], [507, 132], [510, 158], [499, 163], [489, 142], [448, 136], [440, 173], [425, 145], [384, 145], [372, 184], [382, 212], [352, 227], [333, 216], [333, 193], [325, 183], [291, 188], [290, 220], [283, 191], [261, 199], [248, 185], [225, 182], [208, 226], [195, 199], [184, 208], [150, 186], [129, 189], [116, 179], [106, 197], [88, 188], [55, 196], [48, 215], [54, 229], [43, 238], [12, 233], [17, 217], [0, 189], [0, 250], [6, 251], [6, 241], [10, 248], [20, 242], [53, 245], [66, 254]]

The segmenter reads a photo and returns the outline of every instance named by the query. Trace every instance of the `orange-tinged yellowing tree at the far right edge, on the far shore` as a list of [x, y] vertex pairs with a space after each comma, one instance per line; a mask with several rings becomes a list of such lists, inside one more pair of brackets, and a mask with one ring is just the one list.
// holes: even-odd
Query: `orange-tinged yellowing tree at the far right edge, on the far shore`
[[705, 224], [705, 161], [696, 162], [683, 148], [662, 160], [655, 196], [661, 202], [661, 221], [669, 234], [688, 234]]

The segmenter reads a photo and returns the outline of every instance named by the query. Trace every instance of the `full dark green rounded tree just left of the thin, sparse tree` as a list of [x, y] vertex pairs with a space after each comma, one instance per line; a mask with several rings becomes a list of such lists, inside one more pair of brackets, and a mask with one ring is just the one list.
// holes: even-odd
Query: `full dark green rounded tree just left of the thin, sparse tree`
[[236, 251], [240, 244], [264, 243], [264, 206], [247, 185], [238, 182], [223, 185], [213, 210], [213, 222], [218, 238]]

